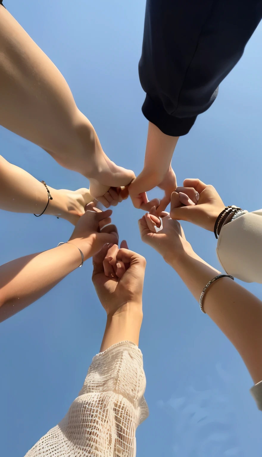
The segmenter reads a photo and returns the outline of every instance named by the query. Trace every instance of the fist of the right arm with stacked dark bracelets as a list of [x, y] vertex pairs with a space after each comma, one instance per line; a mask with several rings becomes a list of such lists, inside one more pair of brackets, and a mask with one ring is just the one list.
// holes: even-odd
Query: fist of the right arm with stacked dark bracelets
[[219, 194], [213, 186], [199, 179], [185, 179], [183, 185], [171, 195], [171, 218], [192, 222], [213, 232], [215, 221], [225, 208]]

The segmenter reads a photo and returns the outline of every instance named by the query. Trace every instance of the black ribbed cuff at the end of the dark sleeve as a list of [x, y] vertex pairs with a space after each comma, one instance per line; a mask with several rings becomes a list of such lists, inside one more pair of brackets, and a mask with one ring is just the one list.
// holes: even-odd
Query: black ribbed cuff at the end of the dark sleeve
[[161, 132], [171, 137], [181, 137], [186, 135], [194, 125], [197, 116], [194, 117], [175, 117], [167, 114], [163, 106], [156, 104], [148, 95], [145, 97], [142, 106], [144, 117], [155, 124]]

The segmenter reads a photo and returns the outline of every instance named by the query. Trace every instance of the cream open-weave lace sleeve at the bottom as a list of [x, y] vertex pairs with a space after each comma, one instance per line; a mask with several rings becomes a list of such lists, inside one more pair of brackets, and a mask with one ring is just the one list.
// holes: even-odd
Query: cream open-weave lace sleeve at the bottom
[[139, 348], [122, 341], [97, 354], [64, 419], [26, 457], [134, 457], [135, 430], [148, 416]]

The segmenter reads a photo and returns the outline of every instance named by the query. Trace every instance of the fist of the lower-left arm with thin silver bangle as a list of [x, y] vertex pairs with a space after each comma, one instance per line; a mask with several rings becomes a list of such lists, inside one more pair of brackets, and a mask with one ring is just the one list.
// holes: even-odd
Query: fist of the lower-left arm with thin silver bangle
[[83, 252], [85, 260], [101, 250], [105, 243], [118, 243], [118, 230], [111, 224], [111, 214], [112, 210], [101, 211], [91, 202], [76, 224], [69, 243]]

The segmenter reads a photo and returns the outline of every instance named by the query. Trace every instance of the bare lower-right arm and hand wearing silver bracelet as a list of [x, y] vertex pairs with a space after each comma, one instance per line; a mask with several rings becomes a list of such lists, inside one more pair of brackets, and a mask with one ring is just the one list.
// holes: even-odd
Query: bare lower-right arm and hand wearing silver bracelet
[[[139, 220], [142, 240], [174, 268], [199, 302], [203, 288], [220, 272], [192, 250], [182, 227], [168, 213], [162, 213], [163, 229], [155, 233], [154, 226], [159, 227], [160, 220], [153, 213], [147, 213]], [[203, 309], [235, 346], [254, 383], [259, 383], [262, 380], [262, 302], [224, 277], [207, 289]]]

